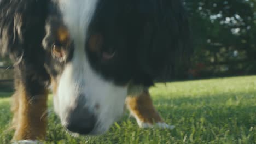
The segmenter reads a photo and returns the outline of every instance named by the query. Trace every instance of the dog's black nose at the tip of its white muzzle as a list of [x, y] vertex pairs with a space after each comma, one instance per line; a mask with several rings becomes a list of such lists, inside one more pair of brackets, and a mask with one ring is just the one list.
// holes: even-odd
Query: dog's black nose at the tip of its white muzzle
[[69, 117], [67, 118], [67, 129], [74, 133], [89, 134], [95, 126], [95, 116], [84, 107], [84, 103], [75, 107], [75, 109], [69, 111]]

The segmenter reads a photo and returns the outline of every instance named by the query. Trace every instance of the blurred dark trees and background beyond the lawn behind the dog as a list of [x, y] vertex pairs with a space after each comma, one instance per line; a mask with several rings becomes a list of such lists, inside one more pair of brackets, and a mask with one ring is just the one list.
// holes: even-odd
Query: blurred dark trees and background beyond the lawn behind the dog
[[[188, 10], [192, 64], [185, 80], [256, 74], [256, 1], [184, 0]], [[0, 57], [0, 89], [11, 89], [13, 68]]]

